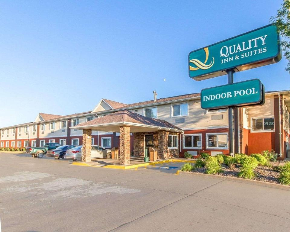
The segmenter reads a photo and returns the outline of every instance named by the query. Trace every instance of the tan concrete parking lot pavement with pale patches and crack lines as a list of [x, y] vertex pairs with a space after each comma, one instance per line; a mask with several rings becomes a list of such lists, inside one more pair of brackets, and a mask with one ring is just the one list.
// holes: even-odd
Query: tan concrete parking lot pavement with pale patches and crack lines
[[0, 153], [2, 231], [289, 231], [289, 191]]

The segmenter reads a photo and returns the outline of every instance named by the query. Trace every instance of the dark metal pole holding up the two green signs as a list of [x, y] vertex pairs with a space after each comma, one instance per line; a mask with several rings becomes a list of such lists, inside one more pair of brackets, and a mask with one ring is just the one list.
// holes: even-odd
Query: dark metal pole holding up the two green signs
[[[227, 72], [227, 83], [233, 84], [234, 83], [234, 69], [229, 69]], [[229, 114], [229, 153], [230, 156], [235, 155], [235, 149], [234, 149], [234, 107], [229, 106], [228, 108], [228, 114]]]

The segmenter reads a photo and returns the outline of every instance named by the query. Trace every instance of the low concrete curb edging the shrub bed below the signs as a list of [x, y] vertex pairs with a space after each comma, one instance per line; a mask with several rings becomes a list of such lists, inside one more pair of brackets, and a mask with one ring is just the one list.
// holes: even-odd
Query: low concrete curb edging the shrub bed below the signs
[[182, 172], [182, 171], [177, 171], [176, 174], [179, 174], [182, 176], [200, 176], [204, 178], [228, 180], [228, 181], [233, 181], [233, 182], [240, 182], [240, 183], [245, 183], [245, 184], [250, 184], [250, 185], [259, 185], [263, 187], [278, 188], [278, 189], [290, 191], [290, 186], [288, 185], [280, 185], [280, 184], [268, 183], [268, 182], [263, 182], [263, 181], [258, 181], [258, 180], [248, 180], [248, 179], [243, 179], [243, 178], [238, 178], [238, 177], [233, 177], [233, 176], [219, 176], [219, 175], [210, 175], [210, 174], [198, 173], [198, 172]]

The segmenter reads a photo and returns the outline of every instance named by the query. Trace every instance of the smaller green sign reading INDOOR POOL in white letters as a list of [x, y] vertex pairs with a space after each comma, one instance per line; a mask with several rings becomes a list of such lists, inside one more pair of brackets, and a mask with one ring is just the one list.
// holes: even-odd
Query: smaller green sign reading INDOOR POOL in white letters
[[263, 85], [259, 79], [201, 90], [201, 108], [207, 110], [263, 103]]

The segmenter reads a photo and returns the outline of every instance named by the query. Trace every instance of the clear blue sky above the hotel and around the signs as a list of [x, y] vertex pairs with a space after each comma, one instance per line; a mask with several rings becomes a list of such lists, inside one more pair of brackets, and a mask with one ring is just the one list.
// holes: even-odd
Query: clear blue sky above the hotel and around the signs
[[[101, 98], [124, 103], [200, 92], [188, 53], [269, 24], [282, 1], [1, 1], [0, 127], [38, 112], [89, 111]], [[235, 74], [289, 89], [287, 62]], [[164, 81], [166, 79], [166, 81]]]

